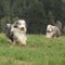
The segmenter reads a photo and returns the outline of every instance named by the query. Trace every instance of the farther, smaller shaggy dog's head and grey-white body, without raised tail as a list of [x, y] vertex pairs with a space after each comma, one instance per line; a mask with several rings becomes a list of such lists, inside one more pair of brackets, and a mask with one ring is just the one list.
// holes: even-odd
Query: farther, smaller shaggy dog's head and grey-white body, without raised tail
[[57, 26], [48, 25], [47, 26], [47, 38], [58, 38], [61, 36], [61, 30]]

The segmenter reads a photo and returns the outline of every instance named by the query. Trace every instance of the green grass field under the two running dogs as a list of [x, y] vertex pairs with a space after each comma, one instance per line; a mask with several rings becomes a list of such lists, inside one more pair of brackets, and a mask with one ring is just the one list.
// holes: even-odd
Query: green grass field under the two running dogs
[[26, 47], [12, 46], [0, 34], [0, 65], [65, 65], [65, 36], [27, 35], [27, 39]]

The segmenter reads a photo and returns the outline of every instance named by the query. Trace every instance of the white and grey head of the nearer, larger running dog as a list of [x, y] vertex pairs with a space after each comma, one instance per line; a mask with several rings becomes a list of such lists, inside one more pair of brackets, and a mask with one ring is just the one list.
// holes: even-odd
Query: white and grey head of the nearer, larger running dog
[[26, 31], [26, 22], [24, 20], [18, 20], [13, 25], [15, 28]]

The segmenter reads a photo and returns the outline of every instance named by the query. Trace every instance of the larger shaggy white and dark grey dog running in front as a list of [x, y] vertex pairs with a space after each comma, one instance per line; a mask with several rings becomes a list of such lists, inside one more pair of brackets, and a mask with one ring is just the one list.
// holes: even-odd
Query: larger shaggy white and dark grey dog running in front
[[10, 24], [8, 26], [9, 38], [14, 43], [20, 42], [21, 44], [26, 44], [27, 37], [26, 37], [26, 22], [24, 20], [17, 20], [13, 25]]

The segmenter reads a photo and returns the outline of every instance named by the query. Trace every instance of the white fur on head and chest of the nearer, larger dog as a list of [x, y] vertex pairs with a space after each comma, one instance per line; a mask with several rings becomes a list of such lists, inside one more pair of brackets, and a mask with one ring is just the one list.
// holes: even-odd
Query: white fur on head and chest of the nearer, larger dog
[[[11, 32], [14, 34], [14, 41], [20, 42], [21, 44], [26, 44], [26, 22], [24, 20], [18, 20], [12, 25]], [[17, 25], [17, 28], [14, 27], [14, 25]], [[24, 30], [21, 30], [21, 28], [24, 27]]]

